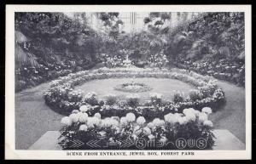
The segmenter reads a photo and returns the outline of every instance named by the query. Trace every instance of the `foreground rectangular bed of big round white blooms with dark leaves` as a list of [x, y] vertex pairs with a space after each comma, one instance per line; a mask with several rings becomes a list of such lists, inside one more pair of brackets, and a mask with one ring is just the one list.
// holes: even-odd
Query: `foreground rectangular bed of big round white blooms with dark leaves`
[[[163, 119], [148, 122], [143, 116], [102, 117], [91, 115], [88, 106], [73, 110], [61, 123], [59, 144], [63, 150], [207, 150], [212, 149], [214, 135], [208, 107], [201, 111], [184, 109], [183, 113], [168, 113]], [[194, 140], [180, 147], [178, 139]], [[203, 141], [198, 144], [198, 140]], [[74, 146], [74, 143], [79, 143]]]

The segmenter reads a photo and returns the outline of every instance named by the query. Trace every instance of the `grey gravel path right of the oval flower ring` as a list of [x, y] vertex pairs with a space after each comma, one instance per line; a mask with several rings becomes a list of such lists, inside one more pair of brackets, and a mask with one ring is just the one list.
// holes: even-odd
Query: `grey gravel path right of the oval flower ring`
[[245, 143], [245, 89], [224, 81], [218, 81], [218, 86], [224, 90], [226, 105], [210, 117], [214, 128], [228, 129]]

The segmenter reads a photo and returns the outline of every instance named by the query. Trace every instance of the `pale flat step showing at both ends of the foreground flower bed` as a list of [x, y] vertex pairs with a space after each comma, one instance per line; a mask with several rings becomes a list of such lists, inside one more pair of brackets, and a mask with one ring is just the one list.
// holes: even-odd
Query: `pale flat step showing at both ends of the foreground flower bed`
[[[229, 130], [216, 129], [213, 133], [217, 138], [213, 150], [245, 150], [245, 144]], [[57, 143], [59, 136], [58, 131], [48, 131], [32, 144], [29, 150], [61, 150], [61, 146]]]

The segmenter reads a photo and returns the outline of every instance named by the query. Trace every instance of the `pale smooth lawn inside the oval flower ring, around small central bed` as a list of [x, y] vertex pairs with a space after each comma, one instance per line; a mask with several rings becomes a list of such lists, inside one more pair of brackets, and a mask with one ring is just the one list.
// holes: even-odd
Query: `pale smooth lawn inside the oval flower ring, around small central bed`
[[76, 87], [76, 89], [81, 89], [84, 93], [96, 92], [100, 99], [104, 99], [108, 93], [114, 93], [119, 96], [119, 99], [125, 98], [126, 95], [131, 94], [127, 92], [117, 91], [114, 89], [119, 84], [125, 82], [139, 82], [148, 85], [152, 90], [137, 93], [140, 96], [142, 101], [148, 100], [149, 93], [162, 93], [164, 99], [173, 98], [173, 90], [183, 91], [185, 95], [189, 95], [189, 90], [193, 89], [192, 86], [184, 82], [174, 80], [174, 79], [165, 79], [165, 78], [122, 78], [122, 79], [104, 79], [104, 80], [95, 80], [84, 83], [84, 85]]

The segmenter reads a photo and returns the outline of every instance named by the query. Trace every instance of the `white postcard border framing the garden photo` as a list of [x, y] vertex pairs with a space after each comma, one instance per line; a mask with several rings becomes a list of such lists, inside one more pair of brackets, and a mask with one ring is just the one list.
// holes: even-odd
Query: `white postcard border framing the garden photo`
[[[246, 150], [193, 150], [195, 156], [67, 156], [65, 150], [15, 150], [15, 12], [245, 12]], [[251, 5], [6, 5], [5, 159], [245, 160], [252, 159]], [[83, 150], [82, 152], [86, 152]], [[90, 152], [102, 150], [90, 150]], [[113, 151], [113, 150], [104, 150]], [[136, 150], [119, 150], [136, 151]], [[163, 150], [140, 150], [163, 151]], [[171, 150], [169, 150], [171, 151]], [[185, 150], [173, 150], [184, 152]], [[73, 151], [75, 152], [75, 151]], [[81, 152], [79, 150], [79, 152]]]

